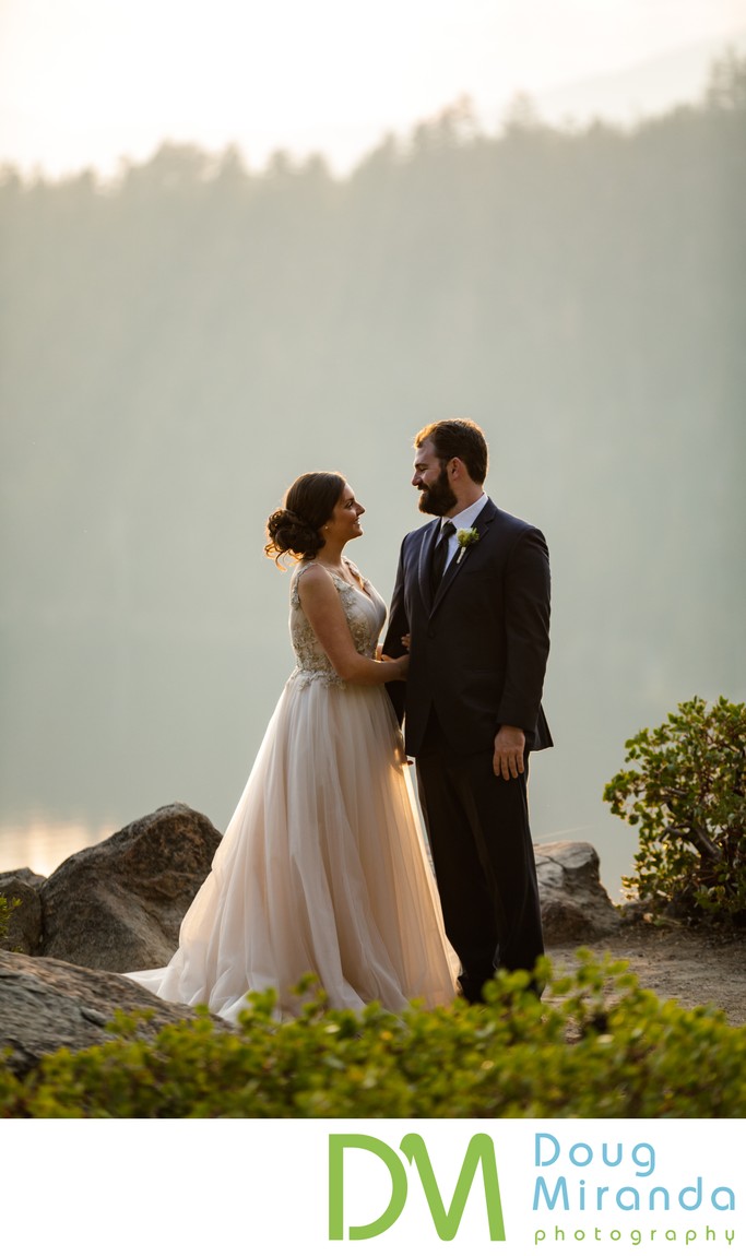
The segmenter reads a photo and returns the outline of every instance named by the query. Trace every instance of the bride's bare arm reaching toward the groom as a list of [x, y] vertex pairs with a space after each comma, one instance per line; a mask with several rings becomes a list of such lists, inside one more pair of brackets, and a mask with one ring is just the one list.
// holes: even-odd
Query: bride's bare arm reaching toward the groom
[[404, 679], [408, 656], [378, 661], [358, 654], [334, 582], [322, 566], [309, 566], [303, 573], [298, 592], [322, 649], [343, 681], [387, 685]]

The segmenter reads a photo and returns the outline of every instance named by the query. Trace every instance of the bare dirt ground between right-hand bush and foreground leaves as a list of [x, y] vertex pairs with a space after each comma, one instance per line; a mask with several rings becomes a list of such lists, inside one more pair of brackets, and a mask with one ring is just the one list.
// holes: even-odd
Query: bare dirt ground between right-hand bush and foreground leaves
[[[576, 965], [576, 947], [548, 947], [555, 973]], [[625, 960], [641, 986], [683, 1007], [711, 1005], [746, 1025], [746, 933], [698, 932], [678, 924], [625, 923], [593, 943], [595, 956]]]

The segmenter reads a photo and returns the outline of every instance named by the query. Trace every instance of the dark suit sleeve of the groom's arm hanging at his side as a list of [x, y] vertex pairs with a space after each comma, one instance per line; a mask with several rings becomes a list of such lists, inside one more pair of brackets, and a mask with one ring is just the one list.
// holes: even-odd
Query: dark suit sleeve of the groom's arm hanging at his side
[[524, 728], [530, 740], [549, 658], [550, 593], [546, 541], [531, 528], [517, 539], [505, 573], [506, 678], [497, 710], [499, 725]]

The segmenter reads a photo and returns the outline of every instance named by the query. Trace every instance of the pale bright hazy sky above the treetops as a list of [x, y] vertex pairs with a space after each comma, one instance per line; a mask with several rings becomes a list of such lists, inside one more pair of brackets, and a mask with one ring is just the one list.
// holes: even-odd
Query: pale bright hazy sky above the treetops
[[462, 94], [540, 95], [746, 31], [746, 0], [0, 0], [0, 162], [60, 173], [165, 139], [338, 170]]

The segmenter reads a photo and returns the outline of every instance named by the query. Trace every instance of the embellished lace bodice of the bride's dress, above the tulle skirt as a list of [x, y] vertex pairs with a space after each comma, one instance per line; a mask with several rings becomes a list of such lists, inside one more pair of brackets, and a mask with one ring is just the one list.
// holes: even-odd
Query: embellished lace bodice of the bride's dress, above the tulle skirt
[[[349, 559], [345, 558], [343, 561], [349, 568], [353, 578], [362, 579], [357, 566]], [[293, 582], [290, 584], [290, 639], [298, 664], [293, 678], [301, 683], [322, 681], [325, 685], [344, 686], [345, 682], [337, 674], [329, 658], [322, 649], [300, 603], [303, 573], [308, 571], [309, 566], [313, 565], [315, 564], [311, 561], [299, 563], [293, 573]], [[329, 575], [339, 593], [339, 600], [342, 602], [342, 608], [358, 654], [367, 654], [368, 658], [373, 658], [386, 619], [386, 603], [383, 598], [376, 592], [369, 580], [363, 579], [364, 588], [360, 588], [337, 575], [335, 571], [329, 571]]]

